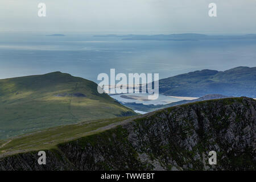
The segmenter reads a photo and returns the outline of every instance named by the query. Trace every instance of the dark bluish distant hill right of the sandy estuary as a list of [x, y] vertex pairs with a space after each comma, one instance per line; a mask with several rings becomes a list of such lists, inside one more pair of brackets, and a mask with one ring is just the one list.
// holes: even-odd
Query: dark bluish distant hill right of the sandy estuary
[[167, 96], [222, 94], [255, 98], [255, 80], [256, 67], [237, 67], [224, 72], [204, 69], [159, 80], [159, 92]]

